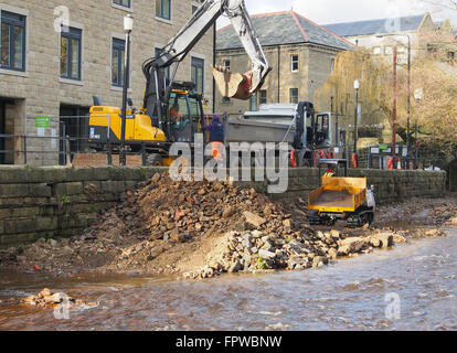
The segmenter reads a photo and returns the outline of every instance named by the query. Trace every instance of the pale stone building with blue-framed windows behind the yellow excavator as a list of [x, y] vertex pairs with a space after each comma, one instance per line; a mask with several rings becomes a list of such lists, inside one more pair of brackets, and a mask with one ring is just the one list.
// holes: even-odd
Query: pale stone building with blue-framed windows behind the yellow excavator
[[[142, 63], [185, 24], [199, 7], [193, 0], [0, 0], [0, 135], [59, 137], [85, 133], [85, 116], [98, 96], [104, 105], [121, 106], [124, 17], [135, 18], [129, 95], [142, 104]], [[61, 26], [63, 23], [63, 26]], [[180, 64], [177, 79], [203, 83], [212, 107], [214, 30]], [[198, 75], [192, 74], [198, 73]], [[26, 124], [24, 124], [26, 119]], [[36, 124], [35, 117], [51, 118]], [[39, 126], [39, 127], [38, 127]], [[0, 138], [0, 150], [23, 150], [23, 139]], [[26, 139], [28, 163], [59, 162], [62, 148], [54, 139]], [[32, 153], [32, 151], [53, 151]], [[0, 163], [22, 163], [22, 153], [0, 153]]]

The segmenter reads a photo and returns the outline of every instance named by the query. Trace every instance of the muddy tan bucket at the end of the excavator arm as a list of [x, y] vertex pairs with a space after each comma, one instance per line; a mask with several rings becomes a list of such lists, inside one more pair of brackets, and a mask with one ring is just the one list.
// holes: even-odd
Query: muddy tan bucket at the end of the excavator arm
[[252, 97], [252, 72], [232, 74], [228, 69], [219, 66], [212, 66], [212, 71], [217, 89], [222, 96], [241, 100], [247, 100]]

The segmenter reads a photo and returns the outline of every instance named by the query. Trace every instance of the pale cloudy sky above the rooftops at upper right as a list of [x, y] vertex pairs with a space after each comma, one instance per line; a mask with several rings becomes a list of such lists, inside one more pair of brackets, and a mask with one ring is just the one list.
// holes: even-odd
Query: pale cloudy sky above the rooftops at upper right
[[[434, 21], [449, 18], [457, 26], [457, 10], [444, 10], [445, 7], [431, 2], [447, 3], [449, 0], [245, 0], [249, 14], [294, 11], [319, 23], [351, 22], [411, 14], [432, 13]], [[228, 24], [227, 19], [219, 21], [217, 26]]]

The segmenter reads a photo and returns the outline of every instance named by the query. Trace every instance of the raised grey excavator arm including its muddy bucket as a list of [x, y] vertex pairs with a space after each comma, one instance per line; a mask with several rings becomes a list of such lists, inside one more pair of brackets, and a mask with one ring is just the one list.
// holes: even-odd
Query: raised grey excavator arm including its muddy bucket
[[[213, 67], [213, 75], [222, 95], [230, 98], [248, 99], [264, 84], [272, 71], [262, 45], [255, 35], [244, 0], [205, 0], [189, 22], [162, 49], [157, 57], [145, 62], [142, 71], [147, 79], [144, 107], [147, 114], [157, 118], [162, 125], [162, 116], [168, 108], [168, 100], [180, 62], [202, 39], [216, 20], [226, 14], [237, 32], [247, 55], [252, 61], [252, 71], [246, 74], [232, 74]], [[176, 63], [171, 77], [167, 79], [164, 69]]]

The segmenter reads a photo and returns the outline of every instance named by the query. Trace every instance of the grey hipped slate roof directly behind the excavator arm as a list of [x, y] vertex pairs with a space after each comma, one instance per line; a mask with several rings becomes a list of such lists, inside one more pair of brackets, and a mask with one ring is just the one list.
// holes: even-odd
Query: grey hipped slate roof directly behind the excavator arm
[[[252, 22], [263, 46], [313, 43], [340, 50], [353, 49], [349, 41], [294, 11], [256, 14], [252, 17]], [[219, 51], [242, 47], [232, 25], [217, 31]]]

